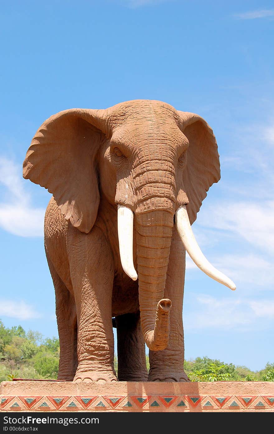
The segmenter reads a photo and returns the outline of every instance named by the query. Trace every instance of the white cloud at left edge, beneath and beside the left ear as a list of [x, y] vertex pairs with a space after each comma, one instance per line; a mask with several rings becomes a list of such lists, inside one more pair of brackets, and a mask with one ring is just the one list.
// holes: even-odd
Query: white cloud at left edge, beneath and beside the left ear
[[42, 237], [45, 210], [31, 205], [21, 173], [13, 161], [0, 158], [0, 184], [7, 193], [0, 203], [0, 227], [21, 237]]

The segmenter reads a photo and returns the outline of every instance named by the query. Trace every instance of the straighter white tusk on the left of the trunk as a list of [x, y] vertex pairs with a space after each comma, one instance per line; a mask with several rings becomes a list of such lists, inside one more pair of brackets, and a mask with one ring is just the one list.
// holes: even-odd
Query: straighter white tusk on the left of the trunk
[[118, 239], [121, 264], [124, 272], [133, 280], [137, 273], [133, 264], [133, 217], [130, 208], [118, 205]]

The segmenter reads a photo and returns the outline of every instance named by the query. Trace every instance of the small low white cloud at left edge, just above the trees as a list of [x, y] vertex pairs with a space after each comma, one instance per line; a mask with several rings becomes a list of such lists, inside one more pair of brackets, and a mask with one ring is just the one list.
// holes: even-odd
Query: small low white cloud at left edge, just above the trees
[[16, 319], [36, 319], [41, 315], [33, 309], [33, 306], [13, 300], [0, 300], [0, 316], [9, 316]]

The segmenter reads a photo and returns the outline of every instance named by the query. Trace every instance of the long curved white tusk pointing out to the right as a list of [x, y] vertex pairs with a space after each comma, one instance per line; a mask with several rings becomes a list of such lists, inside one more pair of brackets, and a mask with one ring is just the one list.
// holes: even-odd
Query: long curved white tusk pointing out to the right
[[191, 257], [192, 261], [196, 263], [200, 270], [206, 273], [209, 277], [216, 280], [219, 283], [227, 286], [235, 291], [235, 283], [232, 282], [225, 274], [217, 270], [203, 255], [197, 241], [195, 240], [192, 232], [189, 217], [186, 210], [186, 205], [179, 207], [175, 213], [175, 223], [179, 233], [179, 236], [183, 242], [183, 245]]

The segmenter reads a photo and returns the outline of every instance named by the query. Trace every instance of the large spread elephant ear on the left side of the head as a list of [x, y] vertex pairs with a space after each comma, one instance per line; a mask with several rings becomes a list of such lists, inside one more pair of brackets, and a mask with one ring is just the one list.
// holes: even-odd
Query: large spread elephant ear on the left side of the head
[[104, 110], [59, 112], [36, 132], [23, 163], [23, 177], [48, 189], [66, 220], [88, 233], [100, 201], [96, 155]]

